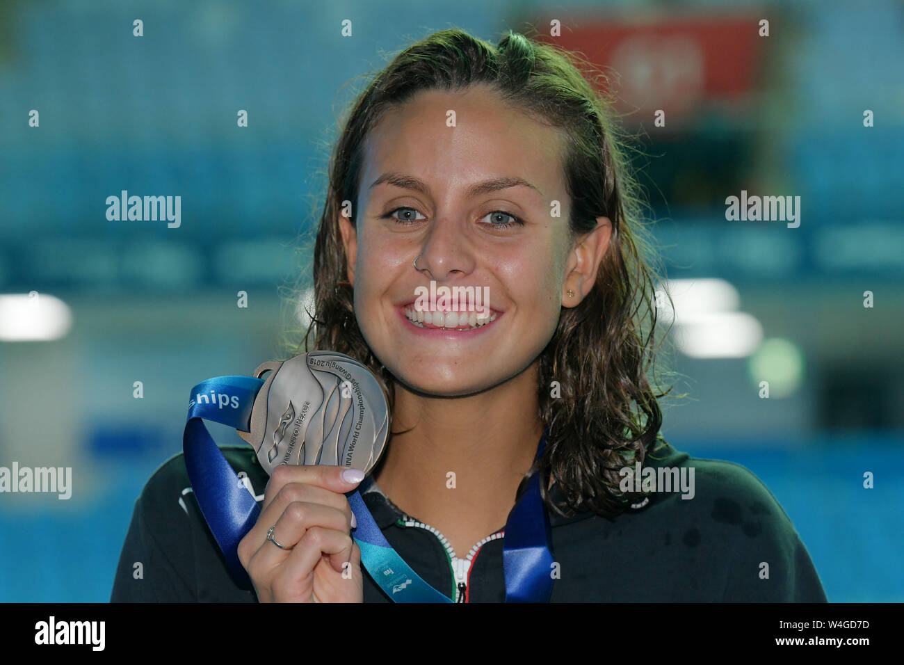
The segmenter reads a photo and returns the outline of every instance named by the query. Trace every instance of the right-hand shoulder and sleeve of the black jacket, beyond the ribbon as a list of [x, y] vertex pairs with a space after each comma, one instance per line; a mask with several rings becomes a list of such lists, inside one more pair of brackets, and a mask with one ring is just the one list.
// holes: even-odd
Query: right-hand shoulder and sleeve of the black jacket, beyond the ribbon
[[824, 602], [794, 525], [751, 470], [665, 442], [631, 470], [640, 487], [624, 490], [645, 494], [634, 508], [615, 518], [585, 512], [553, 529], [568, 571], [560, 600]]

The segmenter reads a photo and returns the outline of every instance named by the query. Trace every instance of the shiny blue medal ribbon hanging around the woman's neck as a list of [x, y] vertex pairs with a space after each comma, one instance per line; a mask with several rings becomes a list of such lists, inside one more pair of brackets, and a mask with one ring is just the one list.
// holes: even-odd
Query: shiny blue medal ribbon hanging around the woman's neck
[[[239, 560], [239, 542], [254, 527], [260, 508], [202, 419], [248, 432], [251, 407], [262, 385], [263, 379], [250, 376], [215, 376], [195, 385], [183, 435], [185, 467], [195, 499], [231, 574], [246, 582], [249, 578]], [[537, 459], [543, 454], [548, 435], [544, 428]], [[528, 480], [505, 523], [506, 603], [547, 603], [552, 593], [550, 519], [543, 507], [539, 476], [535, 473]], [[361, 493], [356, 489], [346, 496], [357, 520], [353, 538], [361, 548], [362, 565], [383, 592], [396, 603], [452, 603], [447, 595], [424, 582], [392, 548]]]

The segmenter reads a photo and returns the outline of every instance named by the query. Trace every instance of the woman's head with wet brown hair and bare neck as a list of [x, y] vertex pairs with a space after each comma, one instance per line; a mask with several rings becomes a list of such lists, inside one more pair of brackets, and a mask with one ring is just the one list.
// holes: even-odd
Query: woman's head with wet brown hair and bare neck
[[[504, 524], [528, 469], [614, 516], [637, 500], [613, 491], [617, 470], [661, 423], [640, 204], [576, 60], [520, 34], [435, 33], [377, 75], [334, 152], [306, 341], [381, 375], [396, 427], [375, 480], [457, 551]], [[416, 328], [405, 311], [434, 281], [485, 289], [494, 321]], [[468, 491], [446, 489], [450, 470]]]

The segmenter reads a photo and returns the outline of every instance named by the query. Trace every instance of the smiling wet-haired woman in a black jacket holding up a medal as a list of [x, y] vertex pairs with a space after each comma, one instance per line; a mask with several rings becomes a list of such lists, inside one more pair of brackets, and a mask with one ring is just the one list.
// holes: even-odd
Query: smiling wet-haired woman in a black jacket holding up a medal
[[[177, 456], [138, 501], [115, 600], [150, 597], [128, 562], [151, 559], [157, 600], [389, 602], [411, 580], [386, 591], [363, 573], [344, 497], [358, 482], [374, 529], [447, 600], [825, 600], [768, 489], [659, 434], [641, 203], [576, 56], [518, 33], [434, 33], [361, 93], [330, 169], [294, 350], [372, 370], [386, 453], [363, 482], [274, 471], [239, 546], [252, 590], [195, 504], [187, 526], [165, 518]], [[419, 299], [441, 288], [473, 295]], [[250, 451], [226, 452], [267, 482]], [[525, 543], [542, 556], [525, 564]]]

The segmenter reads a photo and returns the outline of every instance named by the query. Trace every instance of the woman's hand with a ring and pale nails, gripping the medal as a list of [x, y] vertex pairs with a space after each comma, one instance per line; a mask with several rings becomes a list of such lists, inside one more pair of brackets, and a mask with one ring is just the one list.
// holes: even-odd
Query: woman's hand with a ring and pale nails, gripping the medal
[[[257, 523], [239, 542], [261, 603], [363, 603], [361, 549], [349, 535], [349, 482], [340, 466], [290, 466], [273, 470]], [[357, 473], [361, 476], [360, 471]], [[280, 549], [267, 539], [273, 537]]]

